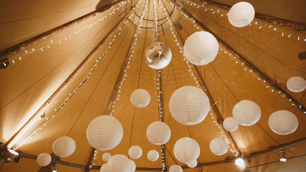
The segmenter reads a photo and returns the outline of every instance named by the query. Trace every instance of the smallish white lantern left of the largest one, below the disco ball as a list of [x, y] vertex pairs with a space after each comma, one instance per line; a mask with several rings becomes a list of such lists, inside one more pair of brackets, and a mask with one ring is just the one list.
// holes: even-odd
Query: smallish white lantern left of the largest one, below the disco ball
[[144, 89], [137, 89], [131, 94], [131, 103], [136, 108], [144, 108], [150, 103], [150, 94]]

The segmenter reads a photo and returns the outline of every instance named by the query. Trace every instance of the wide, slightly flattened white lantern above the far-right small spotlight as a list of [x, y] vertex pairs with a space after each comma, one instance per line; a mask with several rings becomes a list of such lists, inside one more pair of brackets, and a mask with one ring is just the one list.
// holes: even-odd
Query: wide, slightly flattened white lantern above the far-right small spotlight
[[289, 111], [276, 111], [269, 117], [269, 126], [277, 134], [291, 134], [297, 130], [298, 125], [297, 117]]

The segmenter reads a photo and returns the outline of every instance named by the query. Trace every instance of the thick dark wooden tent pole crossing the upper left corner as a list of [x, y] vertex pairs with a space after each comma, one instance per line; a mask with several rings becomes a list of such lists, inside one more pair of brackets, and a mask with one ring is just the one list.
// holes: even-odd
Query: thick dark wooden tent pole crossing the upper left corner
[[97, 16], [101, 13], [104, 13], [105, 11], [109, 10], [109, 9], [113, 9], [115, 6], [119, 5], [120, 3], [124, 2], [125, 0], [119, 0], [117, 2], [111, 3], [109, 5], [106, 5], [105, 7], [102, 7], [100, 9], [97, 9], [91, 13], [88, 13], [84, 16], [81, 16], [77, 19], [71, 20], [68, 23], [62, 24], [61, 26], [55, 27], [49, 31], [46, 31], [42, 34], [39, 34], [35, 37], [32, 37], [28, 40], [25, 40], [23, 42], [20, 42], [14, 46], [11, 46], [7, 49], [4, 49], [2, 51], [0, 51], [0, 60], [3, 60], [5, 58], [11, 57], [25, 49], [28, 49], [32, 46], [35, 46], [36, 44], [43, 42], [44, 40], [57, 35], [58, 33], [61, 33], [62, 31], [65, 31], [67, 29], [70, 29], [71, 27], [74, 27], [94, 16]]

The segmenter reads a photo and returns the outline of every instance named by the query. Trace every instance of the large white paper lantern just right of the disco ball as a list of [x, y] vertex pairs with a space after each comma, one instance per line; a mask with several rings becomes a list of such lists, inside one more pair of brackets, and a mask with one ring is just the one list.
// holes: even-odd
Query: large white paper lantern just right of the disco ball
[[187, 60], [195, 65], [205, 65], [214, 60], [219, 51], [217, 39], [209, 32], [199, 31], [190, 35], [184, 45]]

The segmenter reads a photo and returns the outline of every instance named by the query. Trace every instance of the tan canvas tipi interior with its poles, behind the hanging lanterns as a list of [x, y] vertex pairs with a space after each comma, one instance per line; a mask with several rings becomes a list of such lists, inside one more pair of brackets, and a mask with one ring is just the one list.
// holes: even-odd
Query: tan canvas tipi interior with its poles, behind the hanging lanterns
[[[306, 79], [306, 2], [248, 0], [255, 18], [247, 26], [235, 27], [228, 13], [238, 2], [2, 1], [1, 171], [51, 171], [54, 165], [58, 172], [98, 171], [106, 163], [105, 152], [132, 159], [129, 148], [134, 145], [142, 149], [140, 158], [132, 159], [136, 171], [165, 172], [177, 164], [184, 172], [235, 172], [237, 158], [244, 159], [242, 171], [306, 171], [306, 90], [292, 92], [286, 86], [292, 77]], [[201, 31], [216, 38], [218, 54], [206, 65], [194, 65], [184, 56], [184, 44]], [[162, 69], [149, 67], [145, 59], [146, 48], [156, 40], [172, 53]], [[209, 98], [207, 116], [194, 125], [179, 123], [170, 112], [170, 97], [184, 86], [201, 89]], [[131, 103], [137, 89], [150, 94], [144, 108]], [[196, 96], [188, 99], [192, 98]], [[194, 109], [201, 106], [196, 100]], [[260, 107], [260, 119], [228, 132], [223, 120], [233, 117], [234, 106], [242, 100]], [[269, 117], [280, 110], [296, 116], [298, 127], [293, 133], [271, 130]], [[87, 139], [89, 124], [101, 115], [111, 115], [123, 128], [120, 143], [110, 150], [93, 148]], [[275, 120], [281, 127], [289, 123]], [[148, 126], [156, 121], [170, 128], [170, 139], [163, 145], [147, 138]], [[117, 134], [115, 130], [109, 133]], [[70, 156], [58, 157], [52, 154], [53, 144], [63, 136], [72, 138], [76, 148]], [[174, 151], [183, 137], [192, 138], [200, 147], [194, 168], [182, 163]], [[227, 151], [222, 155], [210, 149], [215, 138], [226, 141]], [[8, 149], [18, 156], [4, 163], [11, 155]], [[195, 148], [183, 146], [183, 156], [191, 149]], [[150, 150], [158, 152], [156, 161], [148, 159]], [[280, 150], [285, 151], [286, 162], [280, 161]], [[45, 167], [36, 161], [42, 153], [52, 154]], [[117, 162], [118, 168], [109, 172], [131, 170], [119, 170], [122, 164]]]

